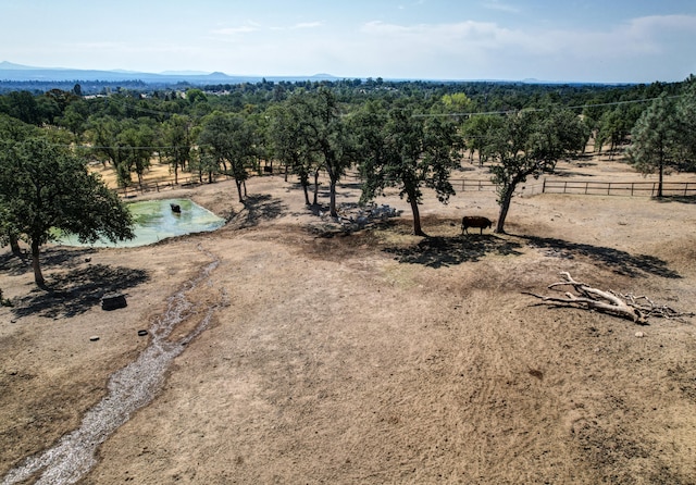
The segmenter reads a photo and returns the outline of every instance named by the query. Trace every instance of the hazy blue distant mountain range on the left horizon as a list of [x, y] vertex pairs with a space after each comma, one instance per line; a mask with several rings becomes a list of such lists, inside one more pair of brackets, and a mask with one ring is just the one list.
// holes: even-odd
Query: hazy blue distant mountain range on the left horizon
[[96, 71], [75, 70], [65, 67], [36, 67], [29, 65], [14, 64], [12, 62], [0, 62], [0, 82], [121, 82], [141, 80], [147, 84], [173, 85], [177, 83], [189, 83], [192, 85], [211, 84], [238, 84], [258, 83], [266, 80], [337, 80], [338, 78], [330, 74], [315, 74], [311, 76], [229, 76], [225, 73], [202, 73], [197, 71], [164, 72], [164, 73], [141, 73], [135, 71]]

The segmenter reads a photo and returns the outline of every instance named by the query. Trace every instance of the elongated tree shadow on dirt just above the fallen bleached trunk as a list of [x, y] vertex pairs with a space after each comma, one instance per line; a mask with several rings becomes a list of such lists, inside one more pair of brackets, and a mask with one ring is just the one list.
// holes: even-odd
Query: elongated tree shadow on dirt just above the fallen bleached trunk
[[614, 273], [646, 277], [661, 276], [666, 278], [681, 278], [682, 276], [667, 266], [667, 262], [649, 254], [631, 254], [614, 248], [569, 242], [562, 239], [535, 236], [519, 236], [526, 239], [530, 247], [544, 250], [547, 256], [574, 259], [585, 257], [606, 266]]

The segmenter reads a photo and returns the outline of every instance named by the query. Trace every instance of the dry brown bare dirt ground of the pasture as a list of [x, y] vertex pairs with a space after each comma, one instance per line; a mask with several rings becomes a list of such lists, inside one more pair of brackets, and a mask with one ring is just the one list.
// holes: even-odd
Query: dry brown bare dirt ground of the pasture
[[[641, 179], [605, 160], [560, 169]], [[569, 271], [695, 311], [694, 200], [519, 197], [508, 235], [462, 236], [464, 213], [496, 219], [495, 194], [426, 194], [424, 239], [396, 194], [377, 203], [401, 217], [343, 234], [282, 176], [248, 191], [246, 207], [233, 182], [138, 196], [188, 196], [229, 223], [134, 249], [48, 247], [50, 293], [2, 249], [3, 483], [156, 341], [178, 353], [125, 424], [75, 445], [97, 449], [79, 483], [696, 483], [696, 319], [637, 326], [522, 294]], [[101, 310], [112, 290], [127, 308]], [[22, 480], [61, 483], [41, 472]]]

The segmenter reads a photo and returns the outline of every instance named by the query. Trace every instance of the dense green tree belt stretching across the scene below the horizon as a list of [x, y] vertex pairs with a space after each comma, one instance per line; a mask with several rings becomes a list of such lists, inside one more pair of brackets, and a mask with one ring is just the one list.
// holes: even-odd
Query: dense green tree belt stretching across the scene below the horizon
[[[425, 188], [442, 202], [455, 194], [452, 171], [477, 153], [497, 186], [505, 222], [515, 188], [551, 173], [591, 139], [610, 152], [627, 140], [643, 173], [694, 170], [696, 80], [633, 86], [514, 83], [394, 83], [384, 79], [240, 84], [149, 92], [120, 89], [85, 97], [79, 86], [0, 96], [0, 241], [39, 247], [60, 228], [84, 240], [132, 237], [119, 199], [87, 170], [113, 166], [117, 183], [141, 183], [152, 160], [201, 183], [246, 181], [281, 164], [307, 204], [326, 175], [330, 212], [348, 170], [362, 178], [362, 202], [396, 187], [421, 227]], [[73, 181], [73, 182], [69, 182]], [[310, 192], [313, 197], [310, 201]], [[661, 190], [660, 194], [661, 196]], [[89, 208], [89, 210], [86, 210]]]

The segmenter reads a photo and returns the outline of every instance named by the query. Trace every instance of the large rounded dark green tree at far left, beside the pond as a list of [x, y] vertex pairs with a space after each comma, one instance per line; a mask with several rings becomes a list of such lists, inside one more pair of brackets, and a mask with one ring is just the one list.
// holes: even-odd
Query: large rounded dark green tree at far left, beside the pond
[[133, 238], [132, 216], [86, 162], [46, 137], [4, 140], [0, 149], [0, 231], [32, 248], [34, 278], [45, 286], [39, 248], [59, 236], [83, 242]]

